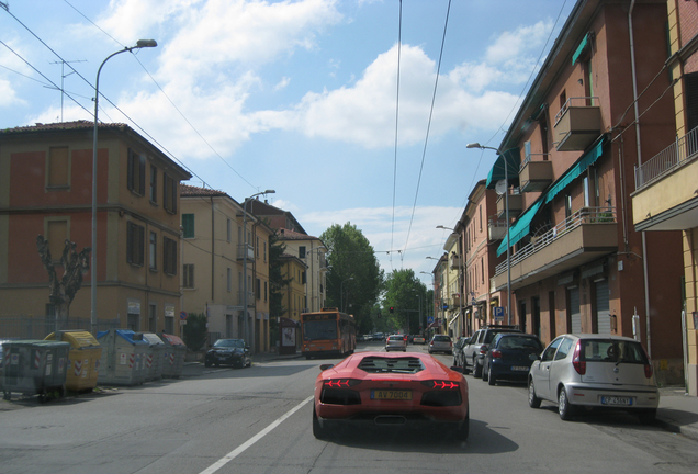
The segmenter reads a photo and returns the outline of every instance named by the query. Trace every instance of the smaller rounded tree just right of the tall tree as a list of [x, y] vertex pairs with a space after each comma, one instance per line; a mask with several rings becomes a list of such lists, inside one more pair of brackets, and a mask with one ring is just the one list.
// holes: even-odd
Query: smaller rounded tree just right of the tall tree
[[[390, 314], [390, 324], [396, 329], [417, 334], [426, 329], [426, 297], [427, 287], [415, 276], [412, 269], [395, 270], [385, 279], [385, 294], [383, 296], [383, 313], [394, 307]], [[421, 314], [421, 318], [419, 317]]]

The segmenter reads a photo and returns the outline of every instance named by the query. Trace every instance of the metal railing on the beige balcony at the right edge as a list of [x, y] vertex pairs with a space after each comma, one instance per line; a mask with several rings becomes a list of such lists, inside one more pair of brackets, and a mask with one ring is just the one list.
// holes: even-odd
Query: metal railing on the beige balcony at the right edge
[[698, 157], [698, 127], [677, 138], [656, 156], [635, 167], [635, 191]]

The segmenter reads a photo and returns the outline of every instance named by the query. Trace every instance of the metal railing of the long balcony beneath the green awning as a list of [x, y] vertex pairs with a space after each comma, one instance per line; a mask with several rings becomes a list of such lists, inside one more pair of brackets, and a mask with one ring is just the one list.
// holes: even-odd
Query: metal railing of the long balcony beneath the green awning
[[[579, 211], [572, 214], [570, 217], [542, 234], [531, 239], [531, 242], [519, 251], [514, 253], [509, 258], [509, 264], [515, 266], [526, 260], [540, 249], [548, 247], [555, 239], [561, 238], [570, 230], [573, 230], [583, 224], [605, 224], [615, 223], [616, 221], [616, 207], [582, 207]], [[507, 262], [503, 261], [495, 269], [495, 276], [507, 271]]]

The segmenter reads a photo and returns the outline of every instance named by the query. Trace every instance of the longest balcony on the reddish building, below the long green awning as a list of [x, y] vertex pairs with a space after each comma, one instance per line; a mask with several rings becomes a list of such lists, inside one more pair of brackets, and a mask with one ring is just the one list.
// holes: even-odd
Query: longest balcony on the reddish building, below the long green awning
[[[613, 207], [583, 207], [510, 257], [511, 287], [536, 283], [618, 251]], [[506, 260], [497, 266], [491, 287], [507, 284]]]

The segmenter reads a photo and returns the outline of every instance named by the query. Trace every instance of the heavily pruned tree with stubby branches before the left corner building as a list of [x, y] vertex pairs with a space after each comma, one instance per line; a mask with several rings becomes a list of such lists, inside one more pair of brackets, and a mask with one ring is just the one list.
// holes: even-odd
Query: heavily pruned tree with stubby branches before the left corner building
[[48, 240], [44, 236], [36, 237], [36, 248], [38, 257], [48, 271], [48, 298], [56, 311], [56, 329], [61, 330], [68, 321], [70, 312], [70, 303], [75, 298], [76, 293], [82, 287], [82, 276], [90, 269], [90, 247], [85, 247], [80, 253], [76, 251], [75, 242], [65, 240], [63, 255], [60, 256], [60, 266], [63, 267], [63, 276], [58, 279], [54, 260], [50, 257]]

